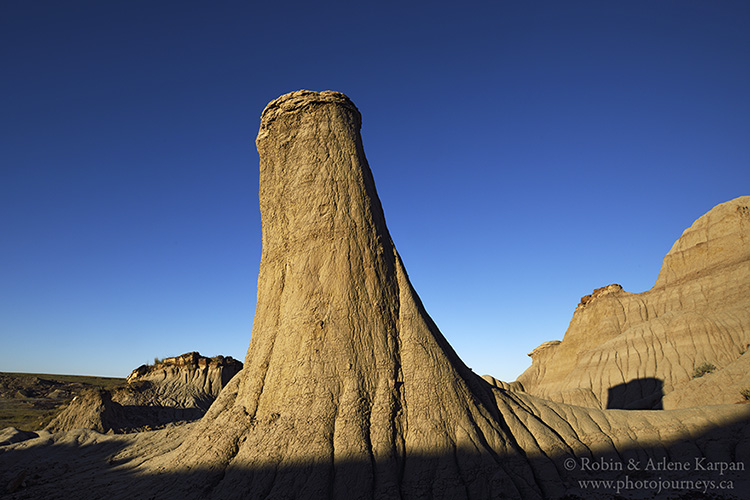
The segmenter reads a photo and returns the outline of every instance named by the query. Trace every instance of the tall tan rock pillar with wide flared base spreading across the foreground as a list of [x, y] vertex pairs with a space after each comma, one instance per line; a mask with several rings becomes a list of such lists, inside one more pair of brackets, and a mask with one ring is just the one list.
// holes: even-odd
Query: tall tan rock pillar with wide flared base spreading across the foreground
[[590, 409], [474, 374], [409, 282], [359, 128], [358, 110], [337, 92], [293, 92], [263, 112], [253, 333], [244, 369], [204, 418], [10, 445], [3, 480], [41, 478], [10, 498], [64, 498], [82, 476], [53, 464], [89, 443], [106, 460], [89, 467], [97, 474], [87, 492], [108, 498], [556, 498], [581, 494], [586, 460], [750, 460], [749, 405]]

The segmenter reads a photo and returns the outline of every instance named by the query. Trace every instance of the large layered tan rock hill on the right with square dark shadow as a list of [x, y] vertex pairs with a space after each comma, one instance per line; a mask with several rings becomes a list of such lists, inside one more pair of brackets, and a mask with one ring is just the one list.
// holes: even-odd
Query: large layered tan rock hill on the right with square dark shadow
[[[750, 196], [743, 196], [685, 230], [651, 290], [609, 285], [583, 297], [562, 342], [531, 352], [518, 381], [537, 396], [602, 408], [730, 403], [750, 387], [739, 368], [748, 344]], [[694, 381], [704, 363], [714, 373]]]

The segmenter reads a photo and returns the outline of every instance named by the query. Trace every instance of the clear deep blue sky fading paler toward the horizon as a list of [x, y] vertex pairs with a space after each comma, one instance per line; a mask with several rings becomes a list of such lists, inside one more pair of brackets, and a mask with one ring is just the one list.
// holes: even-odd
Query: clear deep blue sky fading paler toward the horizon
[[0, 3], [0, 371], [244, 359], [268, 101], [346, 93], [428, 312], [514, 380], [750, 194], [750, 2]]

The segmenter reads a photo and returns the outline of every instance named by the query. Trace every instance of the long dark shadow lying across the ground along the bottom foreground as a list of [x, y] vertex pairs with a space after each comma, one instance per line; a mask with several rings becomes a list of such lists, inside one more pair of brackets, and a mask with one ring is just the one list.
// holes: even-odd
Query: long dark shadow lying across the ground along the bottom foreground
[[[138, 466], [155, 448], [149, 439], [177, 446], [180, 428], [142, 436], [103, 436], [73, 431], [57, 444], [44, 436], [0, 447], [3, 499], [496, 499], [496, 498], [750, 498], [750, 420], [716, 426], [668, 444], [633, 446], [619, 452], [498, 456], [464, 449], [440, 454], [407, 454], [392, 477], [376, 484], [373, 470], [393, 463], [340, 461], [293, 465], [233, 466], [144, 473]], [[185, 427], [184, 431], [189, 431]], [[634, 429], [634, 433], [637, 429]], [[49, 440], [49, 438], [47, 438]], [[141, 439], [140, 454], [128, 453]], [[164, 442], [162, 445], [164, 445]], [[136, 443], [137, 444], [137, 443]], [[446, 464], [477, 464], [460, 477]], [[509, 465], [514, 463], [515, 465]], [[536, 484], [519, 493], [513, 467], [528, 467]], [[448, 467], [450, 469], [450, 467]], [[518, 469], [515, 469], [518, 470]], [[323, 486], [321, 486], [323, 485]], [[383, 493], [379, 497], [375, 490]]]

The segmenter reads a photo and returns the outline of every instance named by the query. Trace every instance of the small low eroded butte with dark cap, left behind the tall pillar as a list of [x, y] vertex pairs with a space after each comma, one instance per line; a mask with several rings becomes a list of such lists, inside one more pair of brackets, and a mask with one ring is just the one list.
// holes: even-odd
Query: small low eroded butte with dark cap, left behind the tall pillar
[[197, 352], [142, 365], [123, 386], [83, 391], [45, 430], [132, 432], [197, 420], [241, 369], [242, 363], [231, 357], [206, 358]]

